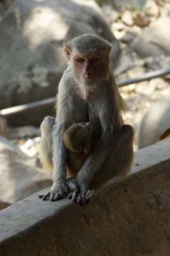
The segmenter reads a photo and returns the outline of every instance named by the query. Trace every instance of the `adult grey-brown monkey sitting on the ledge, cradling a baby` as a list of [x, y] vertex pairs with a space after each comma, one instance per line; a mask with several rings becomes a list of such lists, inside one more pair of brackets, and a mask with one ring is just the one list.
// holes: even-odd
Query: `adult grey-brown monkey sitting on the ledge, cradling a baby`
[[[106, 40], [90, 34], [64, 44], [69, 62], [59, 83], [57, 116], [53, 125], [53, 186], [50, 191], [39, 195], [43, 200], [59, 200], [71, 189], [71, 193], [79, 191], [71, 194], [74, 202], [85, 203], [108, 180], [129, 173], [134, 131], [122, 120], [125, 104], [111, 72], [110, 51], [111, 45]], [[63, 134], [67, 127], [74, 122], [83, 122], [87, 116], [97, 143], [76, 177], [67, 182]], [[50, 127], [51, 120], [48, 119], [45, 123]], [[123, 128], [124, 132], [120, 132]], [[52, 145], [48, 142], [51, 140], [45, 138], [50, 136], [51, 129], [46, 129], [45, 141], [41, 143], [41, 152], [46, 159]]]

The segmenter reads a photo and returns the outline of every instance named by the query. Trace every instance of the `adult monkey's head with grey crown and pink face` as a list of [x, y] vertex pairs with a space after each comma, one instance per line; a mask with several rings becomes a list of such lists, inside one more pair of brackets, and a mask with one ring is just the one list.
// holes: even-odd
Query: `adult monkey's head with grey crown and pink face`
[[110, 70], [111, 45], [103, 38], [84, 34], [64, 44], [74, 76], [85, 84], [106, 79]]

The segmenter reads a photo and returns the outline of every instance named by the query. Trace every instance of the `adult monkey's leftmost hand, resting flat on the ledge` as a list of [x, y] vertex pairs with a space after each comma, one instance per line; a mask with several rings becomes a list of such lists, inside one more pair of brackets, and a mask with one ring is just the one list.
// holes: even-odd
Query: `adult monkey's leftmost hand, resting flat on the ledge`
[[69, 187], [67, 186], [67, 182], [62, 182], [60, 184], [53, 184], [50, 191], [45, 191], [39, 195], [39, 198], [43, 200], [57, 201], [61, 198], [69, 195]]

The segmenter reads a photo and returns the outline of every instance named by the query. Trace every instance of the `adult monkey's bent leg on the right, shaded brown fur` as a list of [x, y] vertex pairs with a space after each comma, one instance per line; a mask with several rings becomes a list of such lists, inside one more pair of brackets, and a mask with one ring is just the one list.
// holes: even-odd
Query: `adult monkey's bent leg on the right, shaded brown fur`
[[123, 125], [122, 130], [114, 136], [110, 154], [101, 168], [96, 172], [88, 187], [80, 184], [80, 193], [74, 198], [76, 204], [85, 204], [94, 198], [99, 188], [109, 180], [122, 179], [128, 175], [133, 161], [134, 130], [131, 125]]

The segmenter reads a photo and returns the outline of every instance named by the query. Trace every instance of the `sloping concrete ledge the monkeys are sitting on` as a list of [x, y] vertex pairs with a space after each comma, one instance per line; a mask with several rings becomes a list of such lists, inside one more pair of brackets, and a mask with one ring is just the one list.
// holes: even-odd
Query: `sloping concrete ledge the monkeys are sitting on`
[[135, 153], [132, 172], [92, 203], [36, 193], [0, 212], [0, 255], [170, 255], [170, 139]]

